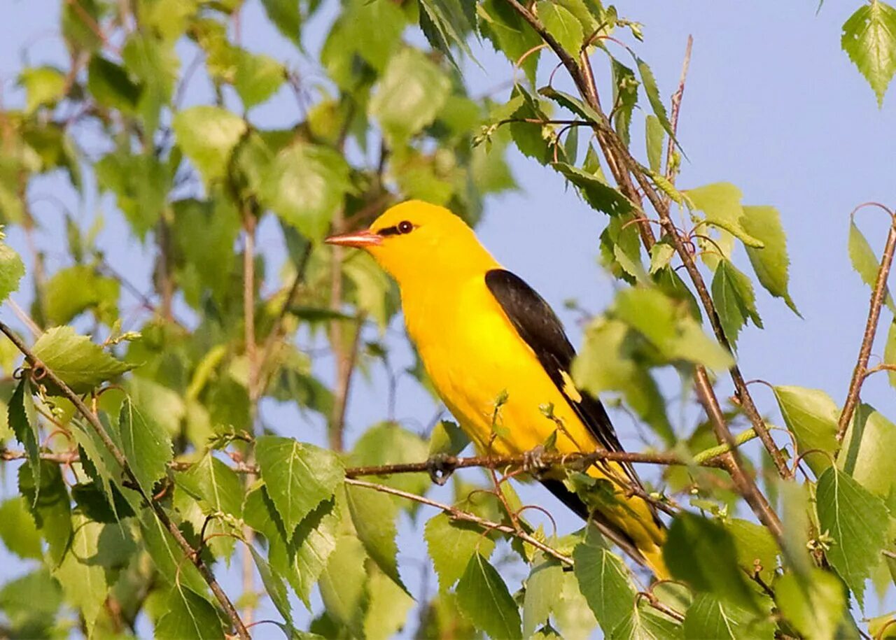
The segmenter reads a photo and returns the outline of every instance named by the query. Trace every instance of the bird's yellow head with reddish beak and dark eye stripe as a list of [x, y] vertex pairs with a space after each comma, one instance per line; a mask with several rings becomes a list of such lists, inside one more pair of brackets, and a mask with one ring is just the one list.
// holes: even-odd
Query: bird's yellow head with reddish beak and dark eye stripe
[[326, 242], [366, 250], [401, 286], [496, 266], [466, 222], [444, 207], [417, 200], [387, 209], [364, 231], [333, 235]]

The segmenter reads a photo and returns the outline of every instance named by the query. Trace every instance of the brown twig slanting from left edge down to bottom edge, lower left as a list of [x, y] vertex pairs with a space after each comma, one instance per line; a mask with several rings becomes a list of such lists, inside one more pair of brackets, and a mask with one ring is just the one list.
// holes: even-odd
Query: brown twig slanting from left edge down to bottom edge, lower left
[[177, 525], [171, 521], [171, 518], [168, 516], [168, 513], [164, 508], [151, 496], [146, 495], [145, 492], [140, 488], [140, 483], [137, 482], [137, 476], [134, 475], [134, 471], [131, 469], [131, 465], [128, 464], [127, 458], [121, 452], [121, 450], [116, 446], [115, 442], [109, 437], [109, 434], [106, 432], [106, 429], [103, 427], [102, 423], [99, 422], [99, 418], [96, 414], [90, 411], [90, 408], [84, 404], [84, 401], [81, 399], [78, 394], [74, 393], [72, 388], [70, 388], [65, 381], [59, 378], [56, 375], [56, 371], [47, 368], [47, 366], [40, 362], [39, 358], [37, 358], [34, 353], [30, 350], [30, 348], [22, 342], [22, 339], [16, 335], [13, 329], [10, 329], [4, 322], [0, 322], [0, 331], [2, 331], [6, 337], [8, 337], [16, 348], [19, 349], [20, 352], [25, 356], [27, 361], [31, 364], [32, 367], [38, 368], [44, 372], [44, 377], [47, 380], [53, 382], [53, 384], [58, 387], [63, 395], [68, 398], [68, 400], [74, 405], [75, 409], [78, 410], [78, 413], [82, 414], [87, 422], [90, 423], [90, 426], [96, 431], [99, 439], [102, 440], [103, 445], [108, 449], [109, 453], [112, 454], [112, 457], [115, 458], [116, 463], [122, 468], [122, 471], [127, 476], [127, 480], [137, 488], [136, 491], [139, 491], [142, 498], [146, 500], [147, 504], [149, 504], [155, 516], [159, 519], [159, 522], [168, 529], [168, 533], [171, 533], [171, 537], [174, 538], [177, 545], [184, 551], [185, 556], [191, 559], [195, 565], [195, 567], [199, 570], [202, 579], [205, 580], [206, 584], [209, 585], [211, 589], [211, 593], [214, 593], [215, 598], [220, 603], [221, 607], [227, 613], [228, 618], [233, 623], [233, 626], [237, 630], [237, 635], [241, 638], [241, 640], [250, 640], [249, 632], [246, 631], [246, 625], [243, 624], [243, 620], [240, 619], [239, 613], [233, 606], [233, 602], [230, 602], [227, 593], [224, 593], [224, 590], [221, 589], [218, 584], [218, 580], [215, 578], [214, 574], [211, 573], [211, 569], [206, 566], [205, 562], [202, 558], [196, 553], [194, 548], [190, 545], [189, 542], [186, 542], [184, 534], [181, 533], [180, 529], [177, 528]]

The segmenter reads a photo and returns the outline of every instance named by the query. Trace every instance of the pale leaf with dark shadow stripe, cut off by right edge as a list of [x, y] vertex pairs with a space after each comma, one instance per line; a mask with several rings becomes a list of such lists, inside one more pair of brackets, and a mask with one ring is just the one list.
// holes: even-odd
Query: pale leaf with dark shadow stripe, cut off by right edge
[[896, 424], [873, 406], [862, 403], [857, 406], [843, 438], [837, 466], [868, 491], [886, 499], [896, 487], [893, 451], [896, 451]]

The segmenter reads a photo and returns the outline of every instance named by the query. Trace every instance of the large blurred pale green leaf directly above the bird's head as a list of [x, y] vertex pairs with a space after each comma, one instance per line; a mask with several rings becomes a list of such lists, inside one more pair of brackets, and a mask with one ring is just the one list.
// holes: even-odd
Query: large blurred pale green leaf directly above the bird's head
[[392, 56], [370, 99], [369, 115], [392, 147], [400, 147], [435, 120], [451, 91], [451, 81], [417, 49]]

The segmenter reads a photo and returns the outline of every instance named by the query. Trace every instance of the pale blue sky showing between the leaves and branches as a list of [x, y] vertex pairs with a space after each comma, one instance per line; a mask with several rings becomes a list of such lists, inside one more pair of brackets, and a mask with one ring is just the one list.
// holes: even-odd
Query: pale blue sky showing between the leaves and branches
[[[740, 340], [739, 360], [747, 379], [762, 378], [775, 384], [823, 388], [842, 402], [855, 363], [864, 329], [868, 292], [849, 265], [846, 251], [849, 212], [863, 201], [892, 204], [894, 155], [896, 155], [896, 97], [885, 99], [878, 109], [874, 94], [840, 50], [840, 25], [855, 10], [857, 2], [828, 3], [816, 14], [814, 0], [798, 2], [719, 3], [710, 0], [642, 0], [620, 2], [620, 13], [644, 22], [646, 42], [639, 54], [656, 74], [663, 95], [676, 88], [688, 34], [694, 36], [694, 53], [685, 90], [678, 129], [688, 160], [678, 184], [682, 188], [716, 181], [737, 184], [745, 202], [771, 204], [780, 209], [788, 233], [791, 257], [791, 293], [803, 314], [797, 318], [779, 300], [760, 292], [759, 311], [767, 329], [748, 328]], [[6, 0], [0, 21], [0, 81], [5, 104], [21, 96], [14, 89], [14, 74], [22, 64], [22, 47], [29, 45], [31, 63], [59, 61], [63, 50], [56, 30], [58, 0]], [[322, 23], [309, 26], [313, 42], [323, 33]], [[297, 63], [288, 43], [264, 23], [256, 1], [249, 2], [243, 21], [243, 40], [255, 51]], [[313, 45], [312, 45], [313, 46]], [[510, 65], [489, 47], [474, 48], [482, 67], [467, 64], [467, 79], [473, 93], [495, 87], [510, 77]], [[202, 86], [191, 90], [188, 101], [202, 101]], [[295, 103], [285, 92], [258, 109], [258, 122], [291, 124]], [[642, 149], [640, 141], [635, 149]], [[487, 203], [480, 237], [498, 260], [520, 274], [560, 311], [573, 343], [581, 339], [576, 318], [562, 309], [563, 301], [575, 298], [583, 308], [599, 312], [610, 302], [614, 283], [595, 260], [598, 235], [605, 218], [588, 209], [565, 188], [563, 179], [550, 170], [513, 155], [514, 175], [521, 191]], [[147, 254], [122, 240], [124, 227], [108, 199], [93, 195], [77, 203], [59, 183], [43, 185], [80, 210], [86, 222], [98, 209], [108, 221], [102, 243], [110, 261], [137, 282], [148, 284]], [[56, 190], [59, 190], [58, 192]], [[52, 230], [59, 221], [51, 208], [36, 208], [45, 227], [40, 242], [61, 246]], [[883, 215], [867, 210], [859, 214], [860, 225], [876, 250], [883, 245]], [[11, 234], [14, 246], [22, 248], [22, 236]], [[272, 226], [263, 228], [259, 246], [277, 255]], [[140, 256], [140, 260], [134, 260]], [[736, 261], [746, 265], [740, 252]], [[52, 267], [63, 264], [59, 252], [50, 253]], [[27, 302], [26, 294], [16, 299]], [[886, 319], [886, 314], [885, 319]], [[12, 320], [4, 308], [0, 318]], [[884, 325], [885, 327], [885, 325]], [[400, 322], [394, 325], [401, 329]], [[394, 340], [393, 340], [394, 341]], [[882, 344], [882, 343], [881, 343]], [[874, 350], [880, 354], [881, 348]], [[406, 350], [398, 357], [409, 363]], [[329, 376], [332, 363], [319, 363]], [[349, 439], [382, 418], [383, 376], [375, 372], [369, 382], [356, 380], [349, 407]], [[670, 387], [671, 388], [671, 387]], [[719, 395], [730, 395], [728, 380], [719, 381]], [[673, 388], [674, 390], [674, 388]], [[756, 388], [757, 401], [771, 422], [780, 422], [771, 395]], [[874, 376], [866, 384], [866, 401], [890, 417], [896, 417], [894, 392], [885, 377]], [[401, 383], [400, 418], [409, 428], [427, 422], [434, 412], [432, 402], [413, 384]], [[670, 412], [675, 415], [676, 412]], [[282, 425], [284, 435], [321, 441], [318, 422], [299, 421], [297, 415], [266, 405], [265, 418]], [[616, 418], [621, 438], [629, 447], [640, 447], [631, 421]], [[0, 490], [3, 495], [14, 484]], [[554, 506], [535, 487], [523, 489], [525, 499]], [[561, 509], [555, 509], [560, 516]], [[573, 517], [560, 516], [568, 531]], [[402, 571], [414, 588], [423, 559], [419, 531], [402, 527]], [[24, 569], [4, 561], [0, 550], [0, 578]], [[521, 576], [515, 577], [517, 580]], [[430, 574], [429, 579], [432, 580]], [[231, 587], [233, 576], [225, 580]], [[891, 591], [882, 610], [896, 608]]]

